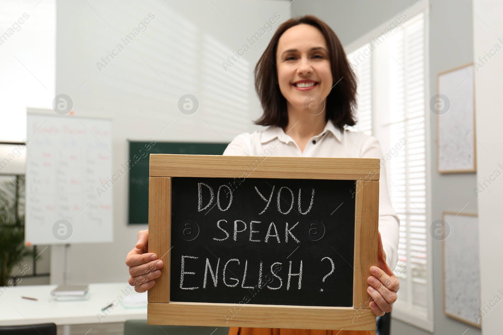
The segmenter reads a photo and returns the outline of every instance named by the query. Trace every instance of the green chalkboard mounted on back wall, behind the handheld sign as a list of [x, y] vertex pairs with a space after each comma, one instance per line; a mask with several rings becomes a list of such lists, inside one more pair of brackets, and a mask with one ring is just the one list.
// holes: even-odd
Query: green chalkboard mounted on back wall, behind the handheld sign
[[[148, 223], [148, 161], [150, 154], [221, 155], [226, 143], [129, 142], [129, 224]], [[121, 170], [122, 170], [121, 168]]]

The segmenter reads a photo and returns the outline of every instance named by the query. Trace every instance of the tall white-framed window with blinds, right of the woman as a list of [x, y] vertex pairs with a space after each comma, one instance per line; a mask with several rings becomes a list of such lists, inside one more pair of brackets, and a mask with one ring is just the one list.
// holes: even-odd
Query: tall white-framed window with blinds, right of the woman
[[[392, 317], [433, 332], [428, 171], [428, 2], [387, 20], [346, 48], [358, 77], [359, 124], [377, 137], [400, 218], [398, 300]], [[400, 148], [400, 149], [398, 149]]]

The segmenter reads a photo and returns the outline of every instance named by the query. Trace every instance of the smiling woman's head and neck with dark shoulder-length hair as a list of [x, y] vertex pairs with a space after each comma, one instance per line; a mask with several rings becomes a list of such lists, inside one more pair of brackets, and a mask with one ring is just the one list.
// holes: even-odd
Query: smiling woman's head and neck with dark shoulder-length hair
[[[302, 78], [306, 74], [309, 78]], [[328, 25], [313, 16], [288, 20], [278, 27], [255, 68], [255, 87], [264, 108], [256, 124], [289, 130], [298, 117], [318, 121], [304, 108], [306, 97], [315, 93], [322, 99], [318, 102], [326, 102], [325, 122], [331, 120], [339, 129], [354, 126], [356, 86], [344, 48]], [[298, 93], [304, 90], [309, 94]], [[290, 111], [296, 117], [289, 117]]]

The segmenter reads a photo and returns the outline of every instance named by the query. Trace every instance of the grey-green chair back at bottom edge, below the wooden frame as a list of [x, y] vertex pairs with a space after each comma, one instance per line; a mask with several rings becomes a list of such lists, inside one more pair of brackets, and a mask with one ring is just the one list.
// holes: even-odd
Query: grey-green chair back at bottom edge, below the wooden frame
[[[216, 329], [216, 330], [215, 330]], [[214, 332], [213, 332], [214, 331]], [[124, 335], [227, 335], [229, 327], [147, 324], [146, 320], [124, 322]]]

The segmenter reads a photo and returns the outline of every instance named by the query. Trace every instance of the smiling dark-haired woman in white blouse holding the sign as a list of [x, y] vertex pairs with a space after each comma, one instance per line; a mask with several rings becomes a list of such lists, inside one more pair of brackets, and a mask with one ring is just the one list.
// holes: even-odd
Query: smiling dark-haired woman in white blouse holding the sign
[[[324, 22], [304, 16], [278, 27], [255, 68], [255, 80], [264, 108], [256, 124], [269, 127], [236, 136], [224, 155], [258, 156], [270, 150], [274, 142], [273, 156], [365, 157], [383, 162], [376, 138], [344, 128], [355, 125], [356, 79], [341, 42]], [[398, 226], [388, 195], [386, 170], [381, 165], [379, 261], [378, 268], [370, 268], [367, 279], [370, 309], [377, 316], [391, 311], [391, 303], [397, 298], [399, 282], [391, 269], [398, 259]], [[137, 292], [154, 285], [163, 265], [155, 254], [147, 253], [147, 243], [148, 231], [140, 231], [136, 248], [126, 258], [129, 283]], [[229, 335], [237, 334], [371, 335], [375, 331], [230, 328]]]

